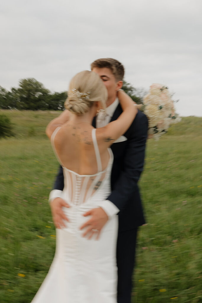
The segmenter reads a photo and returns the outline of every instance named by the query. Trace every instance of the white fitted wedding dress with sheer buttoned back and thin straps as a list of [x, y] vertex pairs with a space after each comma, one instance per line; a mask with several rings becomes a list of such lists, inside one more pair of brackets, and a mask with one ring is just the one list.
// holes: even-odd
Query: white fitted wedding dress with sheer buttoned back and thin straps
[[[54, 138], [59, 128], [51, 137], [55, 153]], [[118, 216], [114, 215], [107, 221], [99, 240], [95, 239], [96, 233], [90, 240], [82, 237], [84, 230], [79, 229], [89, 219], [83, 214], [99, 207], [99, 202], [105, 200], [111, 191], [113, 153], [108, 148], [109, 162], [107, 168], [102, 170], [95, 128], [92, 130], [92, 141], [98, 165], [96, 174], [79, 175], [63, 167], [63, 198], [71, 205], [63, 211], [70, 222], [65, 228], [56, 229], [53, 262], [31, 303], [117, 302]]]

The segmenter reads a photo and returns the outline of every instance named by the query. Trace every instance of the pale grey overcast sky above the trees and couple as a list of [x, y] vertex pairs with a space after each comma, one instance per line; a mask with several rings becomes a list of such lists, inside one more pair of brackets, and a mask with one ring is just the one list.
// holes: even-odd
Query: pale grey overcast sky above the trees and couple
[[175, 92], [181, 116], [202, 116], [201, 0], [7, 0], [0, 10], [0, 85], [33, 77], [52, 92], [97, 58], [123, 63], [136, 88]]

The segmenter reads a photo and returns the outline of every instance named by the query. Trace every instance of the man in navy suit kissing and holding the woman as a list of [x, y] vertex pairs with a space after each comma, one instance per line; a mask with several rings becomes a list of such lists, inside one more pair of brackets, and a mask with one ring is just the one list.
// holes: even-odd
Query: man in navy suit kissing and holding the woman
[[[91, 64], [91, 70], [103, 80], [108, 90], [106, 115], [94, 118], [93, 126], [102, 127], [116, 120], [122, 112], [117, 98], [117, 91], [123, 85], [124, 67], [115, 59], [97, 59]], [[131, 303], [132, 274], [135, 258], [135, 246], [138, 226], [143, 225], [144, 215], [137, 182], [143, 171], [144, 152], [147, 139], [147, 118], [138, 111], [132, 125], [117, 142], [111, 145], [114, 163], [111, 172], [111, 194], [101, 202], [101, 207], [93, 209], [83, 225], [89, 227], [91, 220], [99, 221], [102, 227], [111, 215], [118, 214], [119, 228], [117, 239], [118, 267], [118, 303]], [[55, 226], [66, 219], [62, 207], [67, 206], [61, 199], [64, 187], [63, 171], [60, 167], [54, 190], [51, 191], [51, 211]], [[91, 227], [90, 227], [91, 228]], [[89, 240], [91, 241], [91, 240]], [[103, 302], [104, 303], [104, 302]]]

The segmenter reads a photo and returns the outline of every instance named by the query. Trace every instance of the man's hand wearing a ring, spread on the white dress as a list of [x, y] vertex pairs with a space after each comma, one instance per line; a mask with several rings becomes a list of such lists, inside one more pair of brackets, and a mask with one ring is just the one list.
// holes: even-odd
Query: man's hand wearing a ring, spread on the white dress
[[101, 207], [98, 207], [87, 211], [83, 216], [91, 216], [91, 218], [80, 227], [80, 229], [86, 228], [83, 237], [87, 235], [88, 239], [91, 239], [92, 236], [96, 234], [96, 239], [98, 240], [101, 229], [108, 221], [108, 215]]

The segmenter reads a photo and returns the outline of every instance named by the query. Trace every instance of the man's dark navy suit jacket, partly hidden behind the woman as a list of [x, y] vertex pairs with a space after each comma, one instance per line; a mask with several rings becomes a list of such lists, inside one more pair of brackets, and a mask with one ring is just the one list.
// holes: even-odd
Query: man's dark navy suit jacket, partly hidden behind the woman
[[[121, 115], [120, 104], [111, 121]], [[92, 125], [95, 127], [95, 118]], [[138, 111], [131, 126], [125, 132], [126, 141], [113, 143], [111, 150], [114, 162], [111, 171], [111, 194], [106, 200], [113, 202], [119, 209], [119, 231], [137, 228], [145, 223], [138, 188], [138, 180], [144, 166], [144, 154], [147, 140], [147, 117]], [[60, 167], [54, 189], [63, 190], [64, 176]]]

